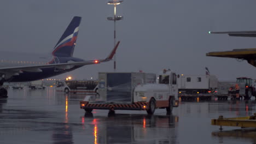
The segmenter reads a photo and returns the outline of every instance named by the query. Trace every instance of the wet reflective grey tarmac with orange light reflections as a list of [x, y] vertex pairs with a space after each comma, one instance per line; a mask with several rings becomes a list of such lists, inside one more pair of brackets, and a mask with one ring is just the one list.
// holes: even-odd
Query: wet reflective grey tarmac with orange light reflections
[[251, 116], [251, 101], [181, 101], [171, 115], [94, 110], [85, 115], [83, 94], [9, 89], [0, 100], [0, 143], [256, 143], [255, 129], [211, 125], [212, 118]]

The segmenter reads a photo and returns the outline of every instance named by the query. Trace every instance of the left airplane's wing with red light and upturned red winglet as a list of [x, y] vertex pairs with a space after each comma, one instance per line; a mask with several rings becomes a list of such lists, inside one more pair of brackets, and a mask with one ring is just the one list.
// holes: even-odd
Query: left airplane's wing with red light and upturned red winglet
[[113, 56], [115, 55], [115, 51], [117, 51], [118, 45], [120, 41], [118, 41], [117, 45], [115, 45], [114, 49], [109, 53], [108, 57], [101, 60], [94, 60], [94, 61], [83, 61], [83, 62], [70, 62], [70, 63], [57, 63], [57, 64], [44, 64], [44, 65], [24, 65], [19, 67], [4, 67], [0, 68], [0, 73], [9, 75], [18, 75], [22, 73], [22, 71], [31, 71], [31, 72], [40, 72], [42, 68], [61, 68], [61, 69], [71, 69], [74, 66], [83, 66], [89, 64], [98, 64], [101, 62], [108, 62], [112, 60]]

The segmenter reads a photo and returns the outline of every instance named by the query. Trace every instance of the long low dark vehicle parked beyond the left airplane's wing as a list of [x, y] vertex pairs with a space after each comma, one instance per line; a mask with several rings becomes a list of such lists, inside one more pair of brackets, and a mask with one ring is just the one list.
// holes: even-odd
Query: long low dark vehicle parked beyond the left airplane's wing
[[56, 81], [56, 91], [65, 93], [94, 93], [98, 91], [97, 80]]

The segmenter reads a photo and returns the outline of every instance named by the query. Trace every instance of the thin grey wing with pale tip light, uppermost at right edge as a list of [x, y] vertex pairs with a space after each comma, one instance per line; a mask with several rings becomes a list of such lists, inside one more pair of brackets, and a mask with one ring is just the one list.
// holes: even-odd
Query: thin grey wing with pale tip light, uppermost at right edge
[[234, 37], [256, 37], [256, 31], [208, 32], [209, 34], [228, 34]]

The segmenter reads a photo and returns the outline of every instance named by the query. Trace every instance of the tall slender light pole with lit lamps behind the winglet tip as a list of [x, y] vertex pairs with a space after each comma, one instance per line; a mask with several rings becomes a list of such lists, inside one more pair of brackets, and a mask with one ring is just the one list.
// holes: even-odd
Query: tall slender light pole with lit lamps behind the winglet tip
[[[109, 21], [114, 21], [114, 47], [115, 47], [115, 38], [116, 38], [115, 22], [119, 21], [119, 20], [123, 20], [123, 16], [117, 16], [117, 5], [120, 4], [121, 2], [123, 2], [123, 1], [119, 1], [119, 0], [108, 1], [108, 4], [114, 5], [114, 17], [107, 18]], [[115, 69], [116, 69], [116, 63], [115, 63], [115, 55], [114, 55], [114, 71], [115, 71]]]

